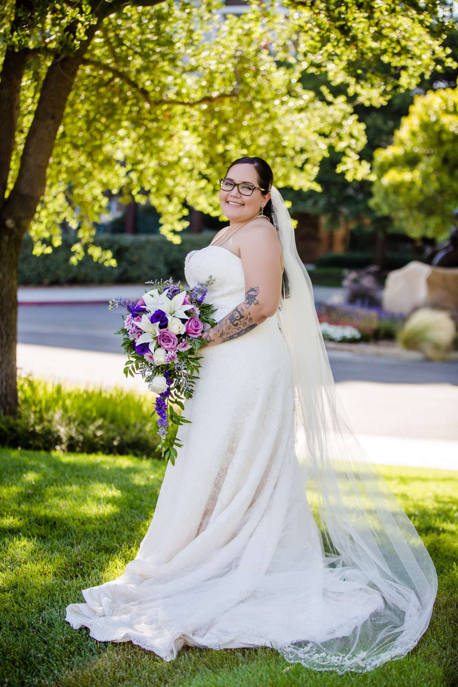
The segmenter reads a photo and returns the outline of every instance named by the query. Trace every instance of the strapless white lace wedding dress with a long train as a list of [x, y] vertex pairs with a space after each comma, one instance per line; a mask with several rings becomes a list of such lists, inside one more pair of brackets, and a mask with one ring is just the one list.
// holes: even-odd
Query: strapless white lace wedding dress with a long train
[[[244, 301], [242, 261], [220, 246], [187, 254], [190, 286], [210, 274], [207, 302], [218, 321]], [[121, 576], [83, 589], [85, 603], [67, 607], [72, 627], [166, 661], [185, 644], [269, 646], [293, 661], [298, 647], [347, 637], [382, 608], [363, 576], [349, 581], [326, 561], [295, 455], [279, 322], [268, 317], [201, 349], [184, 410], [192, 424], [179, 428], [183, 447], [167, 466], [148, 532]]]

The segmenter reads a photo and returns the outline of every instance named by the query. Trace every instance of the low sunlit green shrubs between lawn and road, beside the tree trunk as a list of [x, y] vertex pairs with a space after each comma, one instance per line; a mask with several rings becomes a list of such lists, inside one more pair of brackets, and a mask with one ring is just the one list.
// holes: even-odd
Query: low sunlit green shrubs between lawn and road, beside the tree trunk
[[19, 413], [0, 416], [0, 445], [39, 451], [73, 451], [158, 457], [150, 433], [154, 395], [62, 385], [18, 377]]

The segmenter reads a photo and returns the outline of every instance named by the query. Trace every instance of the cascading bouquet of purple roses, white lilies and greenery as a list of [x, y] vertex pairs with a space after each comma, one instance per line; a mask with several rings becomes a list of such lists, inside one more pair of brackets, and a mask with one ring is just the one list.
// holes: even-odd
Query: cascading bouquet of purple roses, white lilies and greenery
[[[183, 444], [176, 438], [176, 431], [170, 432], [170, 425], [178, 430], [179, 425], [191, 422], [177, 414], [172, 404], [183, 410], [183, 399], [192, 398], [194, 393], [201, 368], [198, 350], [207, 346], [201, 334], [216, 324], [210, 315], [218, 308], [204, 302], [213, 281], [209, 275], [206, 282], [198, 282], [192, 289], [183, 289], [181, 282], [174, 283], [172, 278], [145, 282], [155, 284], [155, 288], [139, 300], [117, 296], [108, 304], [108, 310], [126, 309], [123, 326], [115, 332], [123, 335], [122, 348], [128, 357], [124, 374], [141, 374], [150, 391], [157, 394], [157, 422], [152, 427], [160, 439], [156, 451], [162, 451], [162, 457], [172, 465], [176, 458], [174, 446]], [[153, 415], [154, 411], [150, 417]]]

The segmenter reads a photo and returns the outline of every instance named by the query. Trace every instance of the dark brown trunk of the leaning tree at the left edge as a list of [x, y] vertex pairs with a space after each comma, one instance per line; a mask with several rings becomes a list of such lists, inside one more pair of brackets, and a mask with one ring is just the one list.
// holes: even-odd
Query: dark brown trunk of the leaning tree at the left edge
[[[107, 10], [108, 11], [108, 10]], [[99, 22], [100, 23], [100, 19]], [[21, 166], [14, 183], [14, 188], [0, 207], [0, 413], [16, 415], [18, 409], [16, 381], [16, 337], [17, 337], [17, 273], [19, 253], [23, 238], [30, 227], [38, 202], [45, 192], [46, 172], [54, 148], [60, 122], [67, 105], [69, 93], [84, 58], [89, 43], [97, 30], [98, 24], [87, 30], [87, 38], [74, 52], [65, 56], [58, 55], [49, 66], [40, 98], [34, 113], [34, 119], [25, 139]], [[19, 56], [20, 57], [20, 56]], [[12, 56], [11, 63], [15, 74], [23, 64], [19, 57]], [[4, 67], [9, 67], [10, 63]], [[11, 69], [11, 71], [13, 71]], [[13, 86], [19, 89], [17, 78], [9, 78], [8, 69], [1, 74], [3, 80], [3, 97], [14, 99]], [[5, 109], [5, 100], [0, 102], [0, 112]], [[16, 102], [13, 102], [16, 111]], [[11, 131], [10, 131], [11, 134]], [[5, 182], [5, 162], [8, 162], [10, 146], [0, 146], [3, 174], [0, 184]], [[8, 177], [7, 177], [8, 178]]]

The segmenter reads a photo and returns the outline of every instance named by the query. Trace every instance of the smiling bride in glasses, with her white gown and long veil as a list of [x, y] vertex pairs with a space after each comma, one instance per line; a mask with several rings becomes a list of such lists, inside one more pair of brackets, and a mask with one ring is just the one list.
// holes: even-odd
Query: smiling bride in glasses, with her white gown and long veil
[[75, 629], [165, 661], [185, 645], [268, 646], [315, 670], [369, 671], [428, 627], [433, 562], [350, 427], [310, 278], [260, 157], [220, 180], [229, 218], [185, 259], [216, 326], [192, 423], [133, 561], [67, 607]]

